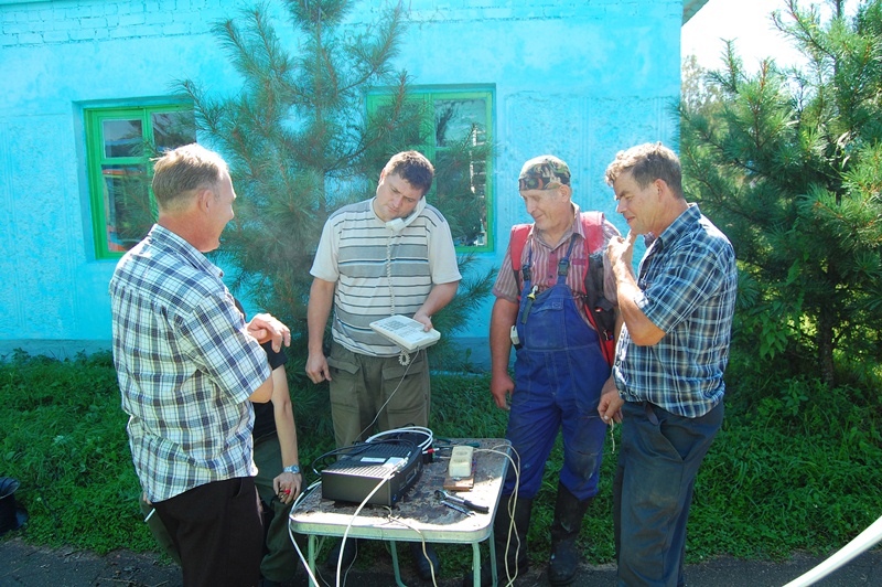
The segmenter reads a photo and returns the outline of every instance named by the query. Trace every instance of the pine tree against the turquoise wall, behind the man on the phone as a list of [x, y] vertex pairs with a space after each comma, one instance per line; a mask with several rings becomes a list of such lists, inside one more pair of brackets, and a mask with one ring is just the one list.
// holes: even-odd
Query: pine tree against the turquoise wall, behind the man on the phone
[[[180, 85], [193, 100], [200, 129], [229, 162], [238, 195], [218, 253], [238, 271], [236, 290], [291, 328], [288, 372], [303, 382], [309, 270], [324, 221], [340, 206], [372, 196], [389, 157], [422, 143], [427, 127], [421, 102], [408, 99], [407, 73], [392, 67], [405, 31], [400, 3], [364, 30], [344, 23], [348, 0], [282, 4], [293, 26], [294, 42], [288, 44], [282, 42], [267, 4], [213, 28], [243, 78], [240, 90], [215, 96], [204, 89], [207, 83]], [[365, 96], [378, 87], [394, 89], [385, 106], [365, 117]], [[471, 157], [467, 150], [461, 154]], [[470, 258], [460, 265], [467, 277], [435, 320], [444, 329], [442, 342], [490, 290], [491, 271], [469, 275]]]

